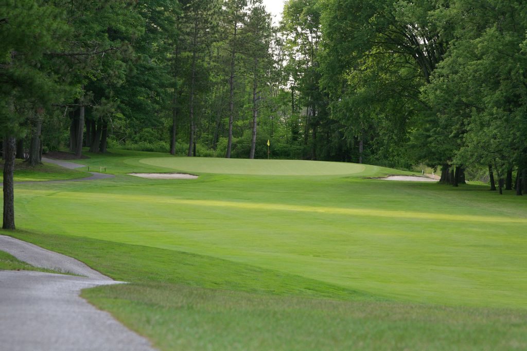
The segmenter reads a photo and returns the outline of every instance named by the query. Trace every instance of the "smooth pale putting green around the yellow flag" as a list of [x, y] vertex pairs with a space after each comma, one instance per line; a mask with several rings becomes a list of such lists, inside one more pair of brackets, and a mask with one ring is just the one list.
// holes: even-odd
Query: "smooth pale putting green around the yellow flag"
[[139, 162], [189, 173], [250, 174], [260, 176], [345, 176], [369, 174], [379, 168], [344, 162], [247, 160], [220, 158], [148, 158]]

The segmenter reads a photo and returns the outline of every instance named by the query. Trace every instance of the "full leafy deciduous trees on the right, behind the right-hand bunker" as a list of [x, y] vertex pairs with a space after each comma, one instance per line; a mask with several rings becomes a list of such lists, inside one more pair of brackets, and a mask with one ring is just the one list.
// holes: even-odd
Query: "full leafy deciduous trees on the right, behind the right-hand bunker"
[[324, 4], [323, 86], [333, 118], [369, 143], [369, 157], [439, 167], [454, 186], [466, 168], [488, 167], [500, 192], [514, 183], [522, 193], [524, 2]]

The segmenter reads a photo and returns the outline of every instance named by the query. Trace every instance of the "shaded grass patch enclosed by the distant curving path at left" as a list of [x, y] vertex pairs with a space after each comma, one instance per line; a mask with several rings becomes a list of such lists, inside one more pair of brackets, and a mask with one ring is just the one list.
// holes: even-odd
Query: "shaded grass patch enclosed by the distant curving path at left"
[[[4, 162], [1, 160], [0, 169], [4, 169]], [[51, 163], [43, 163], [36, 165], [35, 167], [31, 167], [23, 160], [16, 160], [13, 179], [15, 182], [26, 182], [79, 179], [90, 176], [90, 173], [74, 169], [65, 169]], [[0, 183], [3, 181], [4, 175], [0, 173]]]

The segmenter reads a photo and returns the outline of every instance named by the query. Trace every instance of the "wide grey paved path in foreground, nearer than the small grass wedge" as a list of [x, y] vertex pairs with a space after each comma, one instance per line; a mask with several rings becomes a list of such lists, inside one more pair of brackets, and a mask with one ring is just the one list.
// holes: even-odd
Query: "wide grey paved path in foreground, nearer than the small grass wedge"
[[34, 271], [0, 270], [0, 349], [9, 351], [151, 351], [109, 313], [79, 297], [115, 284]]

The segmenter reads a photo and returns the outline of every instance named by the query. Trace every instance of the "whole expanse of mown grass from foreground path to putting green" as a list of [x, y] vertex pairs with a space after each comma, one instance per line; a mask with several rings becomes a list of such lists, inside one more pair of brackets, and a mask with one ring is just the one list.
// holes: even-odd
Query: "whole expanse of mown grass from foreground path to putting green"
[[527, 348], [527, 199], [512, 191], [349, 163], [89, 155], [116, 177], [17, 184], [17, 230], [0, 233], [129, 281], [83, 296], [161, 349]]

